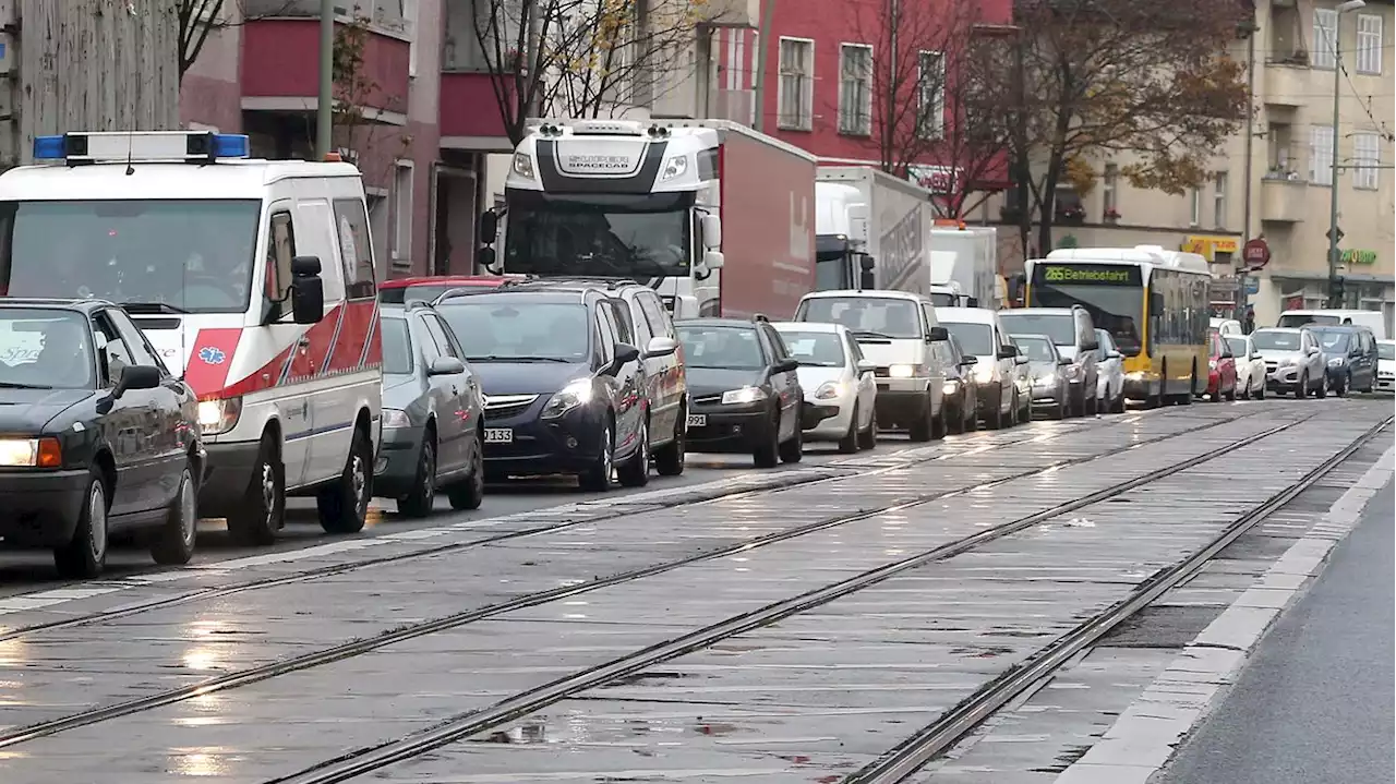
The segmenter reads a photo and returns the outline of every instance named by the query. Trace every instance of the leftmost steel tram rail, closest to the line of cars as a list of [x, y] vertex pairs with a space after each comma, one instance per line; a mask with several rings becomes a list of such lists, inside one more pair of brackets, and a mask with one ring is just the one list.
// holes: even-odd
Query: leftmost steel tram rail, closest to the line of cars
[[[1212, 421], [1212, 423], [1206, 423], [1206, 424], [1202, 424], [1202, 425], [1185, 428], [1185, 430], [1181, 430], [1178, 432], [1166, 434], [1163, 437], [1159, 437], [1159, 438], [1154, 438], [1154, 439], [1149, 439], [1149, 441], [1143, 441], [1141, 444], [1152, 444], [1152, 442], [1160, 441], [1160, 439], [1175, 438], [1175, 437], [1180, 437], [1180, 435], [1188, 435], [1188, 434], [1192, 434], [1192, 432], [1198, 432], [1201, 430], [1208, 430], [1208, 428], [1212, 428], [1212, 427], [1220, 427], [1220, 425], [1224, 425], [1224, 424], [1230, 424], [1230, 423], [1234, 423], [1234, 421], [1240, 421], [1240, 420], [1244, 420], [1244, 419], [1259, 416], [1261, 413], [1262, 413], [1261, 410], [1256, 410], [1256, 412], [1244, 413], [1244, 414], [1240, 414], [1240, 416], [1235, 416], [1235, 417], [1227, 417], [1224, 420]], [[7, 642], [7, 640], [13, 640], [13, 639], [18, 639], [18, 638], [24, 638], [27, 635], [32, 635], [32, 633], [36, 633], [36, 632], [46, 632], [46, 631], [52, 632], [52, 631], [60, 631], [60, 629], [73, 629], [73, 628], [88, 626], [88, 625], [94, 625], [94, 624], [102, 624], [102, 622], [106, 622], [106, 621], [117, 621], [117, 619], [121, 619], [121, 618], [128, 618], [128, 617], [138, 615], [138, 614], [142, 614], [142, 612], [149, 612], [149, 611], [154, 611], [154, 610], [165, 610], [165, 608], [170, 608], [170, 607], [179, 607], [179, 605], [184, 605], [184, 604], [193, 604], [193, 603], [198, 603], [198, 601], [214, 601], [214, 600], [219, 600], [219, 598], [236, 596], [236, 594], [240, 594], [240, 593], [254, 591], [254, 590], [264, 590], [264, 589], [281, 587], [281, 586], [288, 586], [288, 585], [313, 582], [313, 580], [317, 580], [317, 579], [324, 579], [324, 578], [332, 578], [332, 576], [338, 576], [338, 575], [345, 575], [345, 573], [356, 572], [356, 571], [360, 571], [360, 569], [371, 569], [371, 568], [377, 568], [377, 566], [389, 566], [389, 565], [394, 565], [394, 564], [402, 564], [402, 562], [413, 561], [413, 559], [417, 559], [417, 558], [431, 558], [431, 557], [436, 557], [436, 555], [444, 555], [444, 554], [450, 554], [450, 552], [459, 552], [459, 551], [465, 551], [465, 550], [475, 550], [475, 548], [479, 548], [479, 547], [487, 547], [487, 545], [491, 545], [491, 544], [500, 544], [500, 543], [512, 541], [512, 540], [518, 540], [518, 538], [546, 536], [546, 534], [550, 534], [550, 533], [565, 532], [568, 529], [575, 529], [575, 527], [579, 527], [579, 526], [588, 526], [588, 525], [595, 525], [595, 523], [603, 523], [606, 520], [614, 520], [614, 519], [618, 519], [618, 518], [627, 518], [627, 516], [632, 516], [632, 515], [662, 512], [662, 511], [669, 511], [669, 509], [677, 509], [680, 506], [698, 506], [698, 505], [715, 504], [715, 502], [719, 502], [719, 501], [737, 501], [737, 499], [741, 499], [741, 498], [750, 498], [750, 497], [755, 497], [755, 495], [761, 495], [761, 494], [776, 494], [776, 492], [783, 492], [783, 491], [787, 491], [787, 490], [815, 487], [815, 485], [821, 485], [821, 484], [832, 484], [832, 483], [839, 483], [839, 481], [847, 481], [850, 478], [864, 478], [864, 477], [868, 477], [868, 476], [878, 476], [878, 474], [892, 473], [892, 472], [898, 472], [898, 470], [905, 470], [905, 469], [909, 469], [909, 467], [920, 466], [920, 465], [924, 465], [924, 463], [931, 463], [931, 462], [937, 462], [937, 460], [946, 460], [946, 459], [952, 459], [952, 458], [963, 456], [963, 455], [976, 455], [977, 456], [977, 455], [983, 455], [983, 453], [988, 453], [988, 452], [995, 452], [995, 451], [1000, 451], [1000, 449], [1008, 449], [1008, 448], [1012, 448], [1012, 446], [1020, 446], [1020, 445], [1029, 444], [1029, 442], [1047, 442], [1047, 441], [1054, 441], [1057, 438], [1064, 438], [1064, 437], [1069, 437], [1069, 435], [1078, 435], [1078, 434], [1082, 434], [1082, 432], [1093, 432], [1093, 431], [1097, 431], [1097, 430], [1107, 430], [1107, 428], [1111, 428], [1111, 427], [1118, 427], [1122, 421], [1125, 421], [1125, 420], [1117, 417], [1117, 419], [1107, 420], [1106, 423], [1099, 424], [1099, 425], [1074, 428], [1074, 430], [1071, 430], [1068, 432], [1048, 434], [1047, 437], [1043, 437], [1043, 435], [1030, 435], [1027, 438], [1018, 438], [1018, 439], [1013, 439], [1013, 441], [1007, 441], [1004, 444], [993, 444], [993, 445], [980, 446], [980, 448], [976, 448], [976, 449], [970, 449], [969, 452], [958, 452], [958, 453], [951, 453], [951, 455], [944, 455], [944, 453], [928, 455], [928, 456], [924, 456], [924, 458], [917, 458], [917, 459], [906, 460], [906, 462], [898, 463], [895, 466], [874, 467], [874, 469], [870, 469], [870, 470], [866, 470], [866, 472], [861, 472], [861, 473], [857, 472], [857, 470], [847, 470], [846, 473], [840, 473], [840, 474], [835, 474], [835, 476], [799, 477], [799, 478], [793, 478], [789, 483], [776, 484], [773, 487], [738, 488], [738, 490], [733, 490], [730, 492], [718, 492], [718, 494], [713, 494], [713, 495], [677, 499], [677, 501], [673, 501], [673, 502], [656, 501], [653, 504], [645, 504], [645, 502], [638, 502], [638, 504], [637, 502], [630, 502], [630, 504], [627, 504], [625, 502], [625, 497], [618, 497], [616, 499], [617, 504], [616, 504], [616, 511], [614, 512], [609, 512], [609, 513], [603, 513], [603, 515], [597, 515], [597, 516], [589, 516], [589, 518], [582, 518], [582, 519], [577, 519], [577, 520], [565, 520], [565, 522], [561, 522], [561, 523], [543, 525], [543, 526], [528, 527], [528, 529], [521, 529], [521, 530], [514, 530], [514, 532], [504, 532], [504, 533], [494, 534], [494, 536], [486, 536], [486, 537], [480, 537], [480, 538], [472, 538], [469, 541], [454, 541], [454, 543], [448, 543], [448, 544], [438, 544], [438, 545], [431, 545], [431, 547], [420, 547], [420, 548], [415, 548], [415, 550], [408, 551], [408, 552], [395, 552], [395, 554], [391, 554], [391, 555], [380, 555], [380, 557], [376, 557], [376, 558], [364, 558], [364, 559], [352, 561], [352, 562], [348, 562], [348, 564], [332, 564], [332, 565], [327, 565], [327, 566], [318, 566], [318, 568], [314, 568], [314, 569], [299, 571], [299, 572], [292, 573], [292, 575], [279, 575], [279, 576], [267, 576], [267, 578], [254, 578], [254, 579], [247, 579], [247, 580], [239, 580], [239, 582], [223, 585], [223, 586], [212, 586], [212, 587], [195, 589], [195, 590], [190, 590], [187, 593], [176, 594], [176, 596], [166, 596], [166, 597], [154, 598], [154, 600], [149, 600], [149, 601], [140, 601], [140, 603], [133, 603], [133, 604], [124, 604], [121, 607], [116, 607], [116, 608], [112, 608], [112, 610], [105, 610], [105, 611], [98, 611], [98, 612], [89, 612], [89, 614], [84, 614], [84, 615], [75, 615], [75, 617], [71, 617], [71, 618], [60, 618], [60, 619], [53, 619], [53, 621], [42, 621], [42, 622], [38, 622], [38, 624], [27, 624], [27, 625], [22, 625], [22, 626], [15, 626], [13, 629], [0, 631], [0, 643]], [[888, 458], [893, 458], [893, 456], [895, 456], [895, 453], [889, 455]], [[1096, 458], [1092, 456], [1092, 458], [1085, 458], [1085, 459], [1096, 459]], [[1069, 463], [1067, 463], [1067, 465], [1069, 465]], [[839, 466], [829, 466], [829, 467], [831, 469], [839, 469]], [[819, 467], [811, 469], [811, 472], [819, 472], [819, 470], [821, 470]], [[1020, 478], [1020, 476], [1027, 476], [1027, 474], [1015, 474], [1015, 476], [1008, 477], [1008, 478]], [[683, 488], [676, 488], [676, 490], [681, 491]], [[928, 499], [934, 499], [934, 498], [928, 498]], [[888, 508], [888, 509], [891, 509], [891, 508]], [[886, 509], [884, 509], [884, 511], [886, 511]], [[879, 512], [877, 512], [877, 513], [879, 513]], [[191, 569], [186, 569], [186, 571], [188, 571], [188, 572], [204, 572], [204, 571], [216, 572], [218, 566], [216, 566], [216, 564], [214, 564], [214, 565], [209, 565], [209, 566], [191, 568]], [[133, 575], [133, 576], [140, 578], [141, 575]], [[64, 586], [64, 587], [77, 587], [77, 586], [81, 586], [81, 583], [74, 583], [73, 586]], [[46, 591], [46, 590], [52, 590], [52, 589], [43, 589], [43, 590]], [[35, 591], [35, 593], [40, 593], [40, 591]], [[24, 598], [25, 596], [31, 596], [31, 594], [22, 594], [21, 593], [21, 594], [14, 594], [14, 596], [7, 597], [7, 598]], [[0, 737], [0, 748], [3, 748], [3, 745], [4, 745], [4, 738]]]

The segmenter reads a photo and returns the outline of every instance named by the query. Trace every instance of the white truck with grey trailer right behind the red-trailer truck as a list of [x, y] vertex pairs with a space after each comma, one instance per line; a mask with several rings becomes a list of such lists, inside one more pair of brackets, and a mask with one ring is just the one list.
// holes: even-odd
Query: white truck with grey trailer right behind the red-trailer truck
[[930, 296], [931, 191], [868, 166], [821, 166], [817, 286]]

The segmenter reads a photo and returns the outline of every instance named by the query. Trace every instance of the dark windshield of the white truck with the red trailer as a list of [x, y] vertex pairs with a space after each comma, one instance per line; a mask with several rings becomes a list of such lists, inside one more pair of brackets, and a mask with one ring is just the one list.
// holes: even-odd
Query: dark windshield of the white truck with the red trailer
[[533, 275], [687, 278], [692, 193], [510, 191], [504, 269]]

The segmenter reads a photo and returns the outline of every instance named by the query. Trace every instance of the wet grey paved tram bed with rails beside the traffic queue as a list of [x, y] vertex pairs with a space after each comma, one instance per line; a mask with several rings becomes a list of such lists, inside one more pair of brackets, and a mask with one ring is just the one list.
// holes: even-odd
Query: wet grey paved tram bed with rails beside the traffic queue
[[[362, 762], [363, 780], [434, 784], [839, 781], [1390, 409], [1276, 400], [1043, 421], [11, 596], [0, 780], [329, 781], [346, 778], [311, 770]], [[1249, 561], [1273, 559], [1255, 543], [1302, 525], [1293, 509], [1389, 441], [1378, 432], [970, 738], [991, 742], [917, 777], [1050, 780], [1157, 672], [1129, 635], [1171, 622], [1191, 639]], [[1026, 753], [970, 759], [1007, 746], [994, 732], [1044, 693], [1090, 695], [1055, 734], [1025, 730], [1044, 735], [1048, 769], [1022, 767], [1037, 764]], [[349, 762], [320, 767], [336, 757]], [[1002, 777], [973, 778], [994, 764]]]

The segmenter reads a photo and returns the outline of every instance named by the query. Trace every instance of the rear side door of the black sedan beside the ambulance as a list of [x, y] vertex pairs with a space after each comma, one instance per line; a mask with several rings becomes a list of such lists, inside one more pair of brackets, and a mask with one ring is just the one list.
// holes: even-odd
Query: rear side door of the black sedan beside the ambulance
[[[165, 367], [159, 353], [155, 352], [126, 311], [110, 308], [102, 312], [121, 335], [121, 340], [131, 352], [131, 360], [135, 364], [151, 365], [161, 371], [161, 385], [145, 391], [149, 393], [152, 405], [151, 424], [154, 430], [149, 432], [149, 438], [151, 459], [155, 460], [151, 474], [151, 491], [154, 497], [149, 498], [149, 508], [161, 508], [174, 501], [174, 494], [179, 492], [180, 476], [188, 460], [188, 445], [195, 438], [190, 432], [190, 412], [183, 405], [187, 389]], [[194, 478], [197, 481], [201, 477]]]

